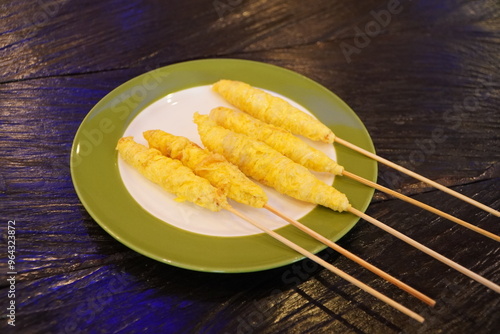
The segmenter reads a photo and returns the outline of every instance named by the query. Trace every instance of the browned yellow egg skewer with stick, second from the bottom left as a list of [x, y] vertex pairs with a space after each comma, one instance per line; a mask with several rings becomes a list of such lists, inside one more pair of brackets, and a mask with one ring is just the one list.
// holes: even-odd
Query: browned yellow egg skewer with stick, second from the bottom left
[[[228, 198], [232, 198], [242, 204], [269, 210], [316, 240], [319, 240], [323, 244], [386, 279], [402, 290], [407, 291], [426, 304], [433, 306], [436, 303], [430, 297], [399, 281], [340, 247], [333, 241], [271, 207], [267, 204], [267, 195], [262, 188], [248, 179], [238, 167], [228, 162], [222, 155], [203, 149], [185, 137], [175, 136], [162, 130], [146, 131], [143, 135], [151, 148], [155, 148], [171, 158], [179, 159], [185, 166], [191, 168], [195, 174], [206, 178], [215, 187], [227, 190], [225, 192]], [[249, 195], [242, 196], [242, 193]]]

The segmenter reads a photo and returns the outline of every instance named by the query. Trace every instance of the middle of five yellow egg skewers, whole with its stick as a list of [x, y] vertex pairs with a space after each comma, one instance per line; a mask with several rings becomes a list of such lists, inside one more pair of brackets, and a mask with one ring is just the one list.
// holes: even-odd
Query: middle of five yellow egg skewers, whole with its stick
[[195, 113], [194, 121], [198, 125], [198, 133], [203, 144], [208, 149], [225, 156], [247, 176], [296, 199], [320, 204], [339, 212], [349, 211], [462, 274], [500, 292], [500, 286], [492, 281], [353, 208], [344, 194], [321, 182], [307, 168], [293, 162], [267, 144], [218, 126], [207, 115]]

